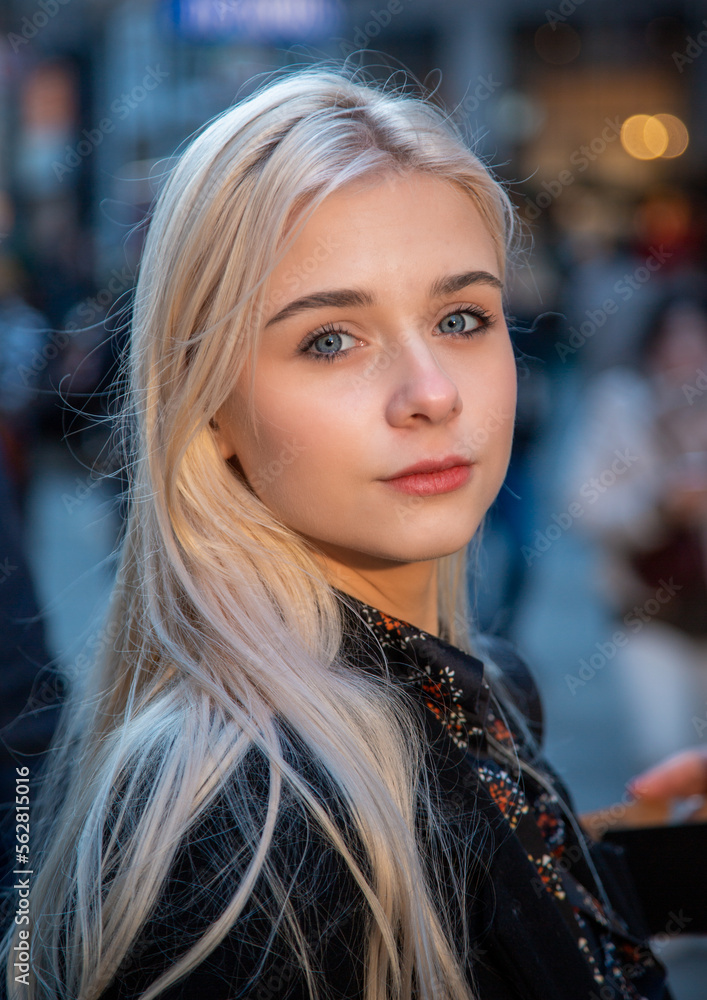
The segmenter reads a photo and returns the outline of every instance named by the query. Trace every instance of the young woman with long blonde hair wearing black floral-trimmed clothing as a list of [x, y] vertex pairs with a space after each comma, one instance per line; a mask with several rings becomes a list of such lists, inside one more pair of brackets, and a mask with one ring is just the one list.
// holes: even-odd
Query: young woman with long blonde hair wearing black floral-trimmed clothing
[[527, 672], [469, 635], [513, 432], [511, 230], [441, 112], [328, 69], [177, 163], [105, 653], [57, 743], [11, 997], [667, 996]]

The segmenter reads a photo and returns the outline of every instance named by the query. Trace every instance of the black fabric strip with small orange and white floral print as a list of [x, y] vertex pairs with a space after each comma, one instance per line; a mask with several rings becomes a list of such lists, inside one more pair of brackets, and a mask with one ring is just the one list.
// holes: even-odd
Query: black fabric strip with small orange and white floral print
[[[519, 758], [536, 759], [537, 747], [491, 689], [483, 662], [369, 605], [348, 597], [347, 603], [353, 603], [359, 622], [384, 654], [391, 679], [417, 693], [455, 746], [469, 752], [470, 766], [509, 831], [523, 844], [598, 987], [610, 984], [614, 997], [643, 1000], [637, 981], [655, 968], [656, 961], [649, 949], [637, 947], [626, 933], [625, 923], [602, 893], [591, 862], [584, 866], [569, 863], [587, 858], [588, 842], [564, 808], [551, 768], [541, 762], [528, 773], [522, 766], [512, 766]], [[547, 780], [538, 780], [534, 771], [541, 771]], [[586, 872], [586, 877], [580, 880], [577, 871]]]

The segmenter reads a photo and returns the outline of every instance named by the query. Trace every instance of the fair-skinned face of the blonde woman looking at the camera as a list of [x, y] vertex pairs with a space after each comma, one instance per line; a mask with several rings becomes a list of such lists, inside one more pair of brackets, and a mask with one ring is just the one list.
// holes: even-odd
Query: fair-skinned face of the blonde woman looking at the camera
[[386, 175], [330, 195], [271, 274], [254, 370], [218, 414], [224, 458], [338, 562], [460, 549], [511, 448], [499, 274], [473, 203], [441, 180]]

